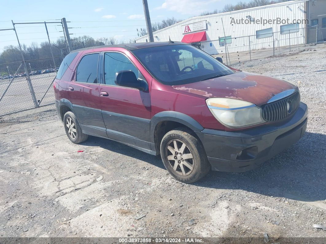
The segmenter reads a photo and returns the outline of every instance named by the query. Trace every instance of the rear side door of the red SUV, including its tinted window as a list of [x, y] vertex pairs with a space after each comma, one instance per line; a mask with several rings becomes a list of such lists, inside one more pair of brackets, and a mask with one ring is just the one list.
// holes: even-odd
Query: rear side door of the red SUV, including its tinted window
[[100, 52], [86, 53], [80, 59], [67, 92], [82, 130], [106, 137], [99, 101], [98, 61]]

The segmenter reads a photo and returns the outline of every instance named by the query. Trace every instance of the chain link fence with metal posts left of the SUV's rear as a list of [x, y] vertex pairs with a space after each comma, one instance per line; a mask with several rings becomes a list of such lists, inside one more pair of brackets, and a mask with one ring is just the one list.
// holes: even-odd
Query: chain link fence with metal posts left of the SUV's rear
[[[52, 83], [63, 57], [0, 64], [0, 115], [54, 103]], [[26, 71], [29, 74], [27, 77]]]

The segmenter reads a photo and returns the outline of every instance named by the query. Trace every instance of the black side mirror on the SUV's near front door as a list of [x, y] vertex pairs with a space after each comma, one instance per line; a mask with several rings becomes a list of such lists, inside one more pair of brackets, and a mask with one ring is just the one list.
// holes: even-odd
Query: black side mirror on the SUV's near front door
[[118, 86], [137, 88], [141, 91], [147, 91], [148, 89], [146, 81], [137, 79], [135, 73], [131, 70], [121, 70], [115, 73], [114, 82]]

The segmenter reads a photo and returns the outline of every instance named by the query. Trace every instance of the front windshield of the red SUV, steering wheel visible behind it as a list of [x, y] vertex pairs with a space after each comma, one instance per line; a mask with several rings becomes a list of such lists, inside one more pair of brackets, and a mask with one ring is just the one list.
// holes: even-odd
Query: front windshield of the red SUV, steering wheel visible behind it
[[149, 72], [166, 85], [182, 85], [234, 72], [190, 45], [169, 45], [132, 51]]

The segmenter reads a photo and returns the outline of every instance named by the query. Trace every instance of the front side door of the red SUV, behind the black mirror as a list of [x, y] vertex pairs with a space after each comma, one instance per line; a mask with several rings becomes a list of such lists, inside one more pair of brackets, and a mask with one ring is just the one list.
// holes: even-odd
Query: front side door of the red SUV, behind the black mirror
[[139, 79], [145, 78], [125, 54], [104, 52], [103, 56], [104, 84], [100, 85], [99, 91], [107, 135], [111, 139], [149, 150], [150, 93], [114, 83], [116, 72], [121, 70], [132, 70]]

